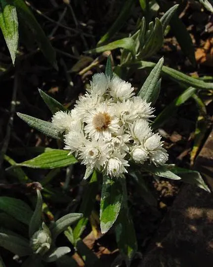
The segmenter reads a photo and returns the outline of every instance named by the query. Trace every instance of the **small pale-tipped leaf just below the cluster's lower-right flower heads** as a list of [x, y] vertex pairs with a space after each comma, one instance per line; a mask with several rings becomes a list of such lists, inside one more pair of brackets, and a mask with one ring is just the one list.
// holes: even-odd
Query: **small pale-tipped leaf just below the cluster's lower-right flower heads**
[[155, 165], [143, 165], [142, 169], [152, 174], [158, 175], [160, 177], [165, 177], [165, 178], [172, 179], [172, 180], [181, 179], [181, 177], [179, 177], [178, 175], [170, 171], [167, 165], [158, 166], [158, 167]]

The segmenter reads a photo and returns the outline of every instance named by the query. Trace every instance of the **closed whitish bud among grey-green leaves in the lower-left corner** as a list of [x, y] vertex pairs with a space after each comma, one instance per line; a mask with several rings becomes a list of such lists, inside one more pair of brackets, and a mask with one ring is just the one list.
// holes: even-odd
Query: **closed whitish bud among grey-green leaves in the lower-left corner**
[[35, 232], [30, 240], [30, 246], [33, 253], [44, 255], [51, 247], [51, 232], [47, 225], [43, 222], [42, 229]]

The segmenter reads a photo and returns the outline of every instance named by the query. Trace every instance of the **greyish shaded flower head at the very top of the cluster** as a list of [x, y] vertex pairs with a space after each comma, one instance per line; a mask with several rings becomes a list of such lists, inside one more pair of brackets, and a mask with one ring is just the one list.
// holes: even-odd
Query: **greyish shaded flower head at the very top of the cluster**
[[91, 88], [88, 90], [91, 94], [103, 96], [108, 88], [109, 77], [104, 73], [94, 74], [90, 82]]

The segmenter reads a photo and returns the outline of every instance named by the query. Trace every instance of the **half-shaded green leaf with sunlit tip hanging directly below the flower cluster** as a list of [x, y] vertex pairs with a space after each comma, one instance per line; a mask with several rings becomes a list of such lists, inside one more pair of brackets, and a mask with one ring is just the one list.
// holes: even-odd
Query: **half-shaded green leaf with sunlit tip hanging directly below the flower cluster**
[[120, 179], [111, 179], [108, 176], [103, 176], [100, 209], [101, 232], [103, 234], [106, 233], [115, 222], [120, 211], [122, 199], [123, 194]]

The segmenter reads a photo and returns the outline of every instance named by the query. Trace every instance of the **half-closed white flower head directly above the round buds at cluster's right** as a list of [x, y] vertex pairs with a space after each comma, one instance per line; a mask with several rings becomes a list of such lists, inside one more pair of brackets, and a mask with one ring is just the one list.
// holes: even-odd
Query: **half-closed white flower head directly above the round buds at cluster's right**
[[145, 138], [152, 136], [152, 129], [148, 121], [138, 119], [130, 125], [130, 134], [135, 143], [140, 144]]

